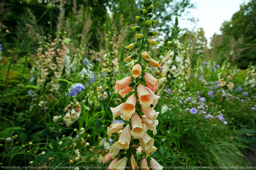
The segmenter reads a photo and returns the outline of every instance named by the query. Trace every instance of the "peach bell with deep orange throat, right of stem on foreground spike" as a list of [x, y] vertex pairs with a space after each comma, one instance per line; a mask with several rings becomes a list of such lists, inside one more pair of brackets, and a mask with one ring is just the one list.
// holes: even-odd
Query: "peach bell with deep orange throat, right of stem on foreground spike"
[[140, 105], [142, 105], [143, 108], [148, 108], [151, 104], [153, 104], [154, 101], [152, 99], [152, 95], [141, 83], [137, 87], [137, 92], [140, 100]]

